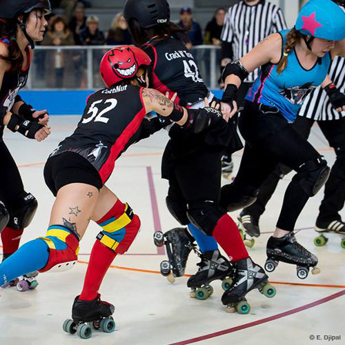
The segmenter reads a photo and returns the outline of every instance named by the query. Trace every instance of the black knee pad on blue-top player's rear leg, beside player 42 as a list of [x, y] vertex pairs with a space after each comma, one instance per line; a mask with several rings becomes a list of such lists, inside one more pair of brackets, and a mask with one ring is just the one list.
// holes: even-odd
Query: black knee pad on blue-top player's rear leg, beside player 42
[[221, 187], [219, 206], [228, 212], [242, 210], [254, 204], [259, 190], [250, 186], [240, 188], [236, 184], [226, 184]]

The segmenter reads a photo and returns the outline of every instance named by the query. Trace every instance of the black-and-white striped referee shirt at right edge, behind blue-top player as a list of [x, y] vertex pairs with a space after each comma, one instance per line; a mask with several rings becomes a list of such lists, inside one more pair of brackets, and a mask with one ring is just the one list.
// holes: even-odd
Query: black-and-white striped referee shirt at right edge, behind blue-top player
[[[343, 57], [333, 59], [328, 75], [339, 91], [345, 93], [345, 59]], [[299, 115], [315, 121], [331, 121], [341, 119], [345, 116], [345, 112], [337, 112], [331, 105], [326, 91], [319, 86], [306, 97]]]

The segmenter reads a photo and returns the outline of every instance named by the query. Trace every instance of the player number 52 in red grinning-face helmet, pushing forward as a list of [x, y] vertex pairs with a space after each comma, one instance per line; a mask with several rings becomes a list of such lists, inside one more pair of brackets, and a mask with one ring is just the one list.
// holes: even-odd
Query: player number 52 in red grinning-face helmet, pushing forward
[[61, 141], [44, 168], [46, 184], [57, 198], [48, 233], [0, 264], [0, 286], [34, 270], [72, 268], [79, 241], [90, 220], [96, 221], [101, 232], [92, 248], [83, 291], [73, 304], [72, 319], [63, 324], [64, 331], [82, 338], [92, 335], [86, 322], [104, 332], [115, 328], [114, 306], [101, 301], [98, 290], [112, 260], [134, 241], [140, 220], [104, 184], [124, 150], [161, 129], [159, 119], [151, 122], [145, 115], [158, 112], [193, 132], [224, 121], [215, 108], [186, 110], [146, 88], [150, 63], [144, 51], [130, 46], [114, 48], [103, 57], [100, 71], [106, 88], [88, 98], [77, 129]]

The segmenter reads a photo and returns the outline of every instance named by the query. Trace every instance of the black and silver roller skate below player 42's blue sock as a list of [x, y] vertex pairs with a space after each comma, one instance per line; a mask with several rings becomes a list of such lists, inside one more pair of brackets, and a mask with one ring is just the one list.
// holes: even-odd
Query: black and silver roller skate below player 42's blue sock
[[199, 270], [188, 279], [187, 286], [191, 288], [190, 297], [208, 299], [213, 294], [210, 282], [220, 279], [223, 290], [228, 290], [232, 283], [233, 266], [228, 259], [220, 255], [219, 250], [211, 250], [199, 254], [201, 262], [197, 264]]

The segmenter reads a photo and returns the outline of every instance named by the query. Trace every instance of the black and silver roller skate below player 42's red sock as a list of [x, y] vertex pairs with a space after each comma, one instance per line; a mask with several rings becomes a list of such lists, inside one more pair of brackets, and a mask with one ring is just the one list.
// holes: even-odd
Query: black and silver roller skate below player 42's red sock
[[233, 284], [221, 297], [221, 302], [226, 306], [227, 313], [237, 311], [239, 314], [248, 314], [250, 305], [246, 295], [255, 288], [268, 298], [275, 297], [277, 290], [268, 283], [268, 276], [264, 268], [255, 264], [250, 257], [235, 262], [233, 266]]

